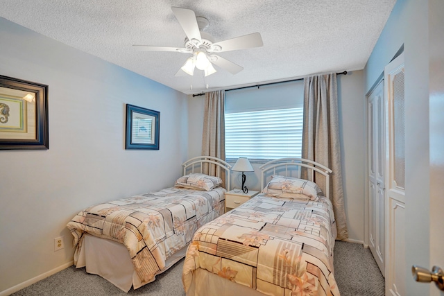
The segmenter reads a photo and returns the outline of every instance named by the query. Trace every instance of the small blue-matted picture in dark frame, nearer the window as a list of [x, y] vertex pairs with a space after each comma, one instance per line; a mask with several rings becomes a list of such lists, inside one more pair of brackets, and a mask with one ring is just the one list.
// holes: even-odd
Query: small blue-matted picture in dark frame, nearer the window
[[125, 149], [159, 150], [160, 112], [126, 104]]

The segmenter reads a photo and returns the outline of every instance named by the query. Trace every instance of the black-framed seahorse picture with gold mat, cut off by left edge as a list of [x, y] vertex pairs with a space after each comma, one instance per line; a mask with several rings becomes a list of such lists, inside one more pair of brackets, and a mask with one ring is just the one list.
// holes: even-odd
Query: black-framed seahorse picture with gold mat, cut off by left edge
[[0, 75], [0, 150], [49, 149], [48, 85]]

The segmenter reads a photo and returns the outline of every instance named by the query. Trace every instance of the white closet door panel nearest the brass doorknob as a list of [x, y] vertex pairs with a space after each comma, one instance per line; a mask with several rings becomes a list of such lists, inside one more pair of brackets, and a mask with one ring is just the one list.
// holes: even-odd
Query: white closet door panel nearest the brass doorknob
[[386, 295], [405, 291], [404, 55], [384, 69], [387, 109]]

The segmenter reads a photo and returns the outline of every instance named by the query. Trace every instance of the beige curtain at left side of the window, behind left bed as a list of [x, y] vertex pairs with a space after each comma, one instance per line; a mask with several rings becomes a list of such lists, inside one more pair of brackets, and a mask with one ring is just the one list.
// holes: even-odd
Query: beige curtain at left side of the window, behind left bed
[[[202, 155], [219, 157], [225, 160], [225, 91], [207, 92], [205, 94], [205, 114], [203, 117]], [[211, 168], [214, 172], [214, 166]], [[210, 168], [204, 167], [208, 174]], [[221, 172], [225, 184], [225, 174]]]

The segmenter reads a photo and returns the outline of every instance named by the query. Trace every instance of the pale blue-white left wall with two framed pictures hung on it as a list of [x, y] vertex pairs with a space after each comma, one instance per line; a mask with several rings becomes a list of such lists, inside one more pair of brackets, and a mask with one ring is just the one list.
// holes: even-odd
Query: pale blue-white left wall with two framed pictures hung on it
[[[49, 150], [0, 151], [1, 293], [72, 261], [81, 209], [173, 185], [188, 130], [185, 94], [2, 18], [0, 75], [49, 85]], [[125, 150], [126, 103], [160, 111], [160, 150]]]

